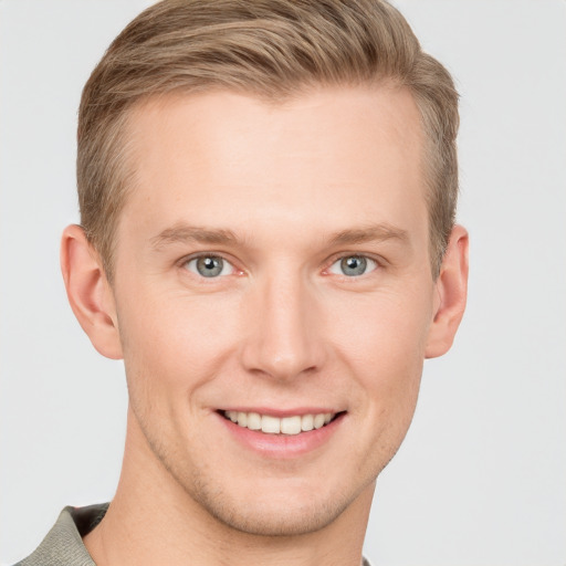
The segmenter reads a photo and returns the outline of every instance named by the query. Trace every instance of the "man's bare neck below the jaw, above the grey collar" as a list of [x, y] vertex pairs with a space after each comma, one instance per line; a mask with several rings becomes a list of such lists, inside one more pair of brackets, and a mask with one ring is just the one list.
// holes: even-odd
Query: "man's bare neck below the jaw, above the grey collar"
[[374, 488], [318, 531], [296, 536], [243, 533], [187, 494], [154, 457], [129, 415], [116, 495], [84, 544], [97, 566], [359, 566]]

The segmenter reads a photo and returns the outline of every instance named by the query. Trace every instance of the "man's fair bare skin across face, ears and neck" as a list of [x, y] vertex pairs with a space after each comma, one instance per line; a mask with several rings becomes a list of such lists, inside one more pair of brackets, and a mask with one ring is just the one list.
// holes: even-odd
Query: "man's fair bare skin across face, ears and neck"
[[[449, 349], [465, 303], [463, 228], [431, 275], [411, 95], [176, 96], [137, 108], [129, 135], [112, 286], [78, 227], [62, 244], [71, 305], [129, 390], [120, 482], [87, 549], [98, 565], [359, 564], [423, 359]], [[195, 254], [223, 274], [199, 275]], [[344, 274], [348, 256], [367, 271]], [[342, 417], [277, 457], [218, 412], [258, 407]]]

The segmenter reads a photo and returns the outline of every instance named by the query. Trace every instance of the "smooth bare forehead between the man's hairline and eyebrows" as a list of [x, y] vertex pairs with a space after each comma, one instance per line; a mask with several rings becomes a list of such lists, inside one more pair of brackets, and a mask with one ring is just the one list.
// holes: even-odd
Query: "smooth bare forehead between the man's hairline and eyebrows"
[[127, 136], [135, 190], [125, 216], [136, 221], [202, 224], [212, 210], [231, 226], [234, 211], [255, 226], [426, 216], [420, 115], [403, 88], [319, 88], [282, 103], [166, 96], [135, 108]]

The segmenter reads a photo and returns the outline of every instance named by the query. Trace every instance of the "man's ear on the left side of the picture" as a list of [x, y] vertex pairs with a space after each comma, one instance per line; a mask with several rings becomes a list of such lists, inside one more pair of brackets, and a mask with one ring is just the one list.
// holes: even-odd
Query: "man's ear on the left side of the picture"
[[71, 224], [63, 231], [61, 271], [71, 308], [93, 346], [107, 358], [120, 359], [114, 294], [101, 256], [80, 226]]

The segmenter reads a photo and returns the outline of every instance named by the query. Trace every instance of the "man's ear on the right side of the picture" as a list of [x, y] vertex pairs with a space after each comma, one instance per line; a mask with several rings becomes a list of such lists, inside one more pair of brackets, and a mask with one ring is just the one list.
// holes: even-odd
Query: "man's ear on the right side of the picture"
[[434, 291], [434, 318], [429, 329], [424, 356], [436, 358], [446, 354], [464, 314], [468, 295], [468, 232], [455, 226], [440, 268]]

